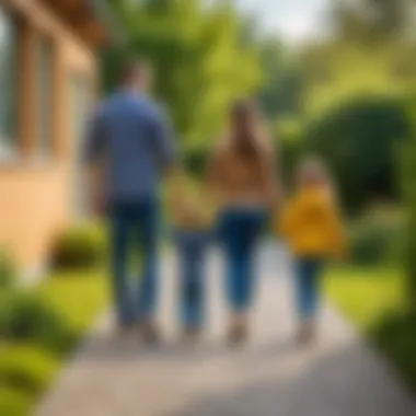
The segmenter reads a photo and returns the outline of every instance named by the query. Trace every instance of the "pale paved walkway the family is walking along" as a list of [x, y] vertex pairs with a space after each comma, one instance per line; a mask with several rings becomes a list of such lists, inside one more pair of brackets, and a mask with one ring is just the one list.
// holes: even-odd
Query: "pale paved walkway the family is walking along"
[[111, 319], [76, 355], [36, 416], [415, 416], [416, 405], [388, 367], [330, 308], [312, 349], [288, 342], [294, 319], [284, 256], [265, 247], [253, 340], [223, 346], [220, 262], [209, 274], [209, 328], [203, 345], [176, 340], [174, 263], [164, 262], [161, 323], [166, 345], [117, 340]]

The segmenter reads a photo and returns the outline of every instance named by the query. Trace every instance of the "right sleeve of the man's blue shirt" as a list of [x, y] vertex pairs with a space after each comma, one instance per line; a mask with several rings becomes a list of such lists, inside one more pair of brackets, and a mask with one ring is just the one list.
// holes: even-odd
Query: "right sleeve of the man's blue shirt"
[[164, 169], [175, 164], [177, 161], [175, 138], [166, 112], [158, 108], [152, 116], [150, 128], [157, 159], [161, 166]]

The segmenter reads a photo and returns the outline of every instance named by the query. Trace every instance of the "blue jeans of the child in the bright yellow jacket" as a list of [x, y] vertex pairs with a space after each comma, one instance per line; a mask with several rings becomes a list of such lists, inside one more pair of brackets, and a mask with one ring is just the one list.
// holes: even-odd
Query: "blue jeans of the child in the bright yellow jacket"
[[296, 299], [300, 319], [314, 317], [319, 308], [322, 261], [296, 259]]

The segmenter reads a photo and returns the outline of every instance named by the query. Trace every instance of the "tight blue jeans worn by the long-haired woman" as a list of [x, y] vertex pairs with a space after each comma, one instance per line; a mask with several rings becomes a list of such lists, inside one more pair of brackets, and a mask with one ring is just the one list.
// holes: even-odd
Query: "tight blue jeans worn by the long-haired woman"
[[226, 258], [226, 289], [233, 312], [250, 309], [253, 300], [254, 254], [265, 215], [262, 209], [226, 209], [219, 218], [219, 239]]

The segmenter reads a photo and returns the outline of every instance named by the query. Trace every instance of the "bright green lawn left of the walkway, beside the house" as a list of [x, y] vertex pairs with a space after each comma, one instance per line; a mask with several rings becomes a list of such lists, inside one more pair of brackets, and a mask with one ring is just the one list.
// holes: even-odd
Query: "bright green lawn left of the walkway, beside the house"
[[[107, 280], [101, 270], [56, 274], [30, 290], [39, 292], [70, 328], [69, 349], [105, 309], [108, 298]], [[67, 358], [45, 345], [22, 340], [0, 344], [0, 356], [1, 416], [28, 415]]]

